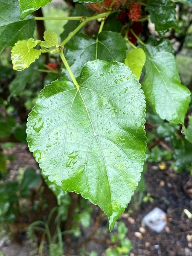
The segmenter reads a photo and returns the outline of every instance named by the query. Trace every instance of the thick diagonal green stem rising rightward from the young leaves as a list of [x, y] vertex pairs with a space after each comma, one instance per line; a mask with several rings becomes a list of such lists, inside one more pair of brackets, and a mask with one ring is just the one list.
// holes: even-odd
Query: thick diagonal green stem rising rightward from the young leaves
[[83, 17], [85, 20], [82, 21], [82, 23], [76, 27], [76, 29], [74, 29], [72, 32], [69, 33], [68, 37], [65, 38], [65, 40], [61, 43], [61, 46], [64, 46], [65, 44], [67, 44], [67, 42], [90, 20], [96, 20], [99, 18], [103, 18], [103, 17], [108, 17], [108, 15], [110, 15], [111, 13], [116, 12], [112, 11], [112, 12], [104, 12], [104, 13], [100, 13], [98, 15], [94, 15], [92, 17]]

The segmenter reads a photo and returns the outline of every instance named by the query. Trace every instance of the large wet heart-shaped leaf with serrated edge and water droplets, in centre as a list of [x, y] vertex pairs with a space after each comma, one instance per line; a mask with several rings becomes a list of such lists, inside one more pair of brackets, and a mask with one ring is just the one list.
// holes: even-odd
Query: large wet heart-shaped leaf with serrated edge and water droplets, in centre
[[143, 91], [130, 69], [91, 61], [78, 89], [54, 81], [41, 91], [29, 114], [27, 141], [49, 180], [98, 204], [112, 230], [140, 180], [144, 117]]

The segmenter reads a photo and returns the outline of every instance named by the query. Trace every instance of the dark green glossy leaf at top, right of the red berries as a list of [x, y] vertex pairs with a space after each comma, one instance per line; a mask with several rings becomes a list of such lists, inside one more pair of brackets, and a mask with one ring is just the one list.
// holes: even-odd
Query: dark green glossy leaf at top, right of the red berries
[[160, 34], [169, 32], [172, 27], [177, 27], [176, 4], [172, 0], [148, 0], [146, 10]]

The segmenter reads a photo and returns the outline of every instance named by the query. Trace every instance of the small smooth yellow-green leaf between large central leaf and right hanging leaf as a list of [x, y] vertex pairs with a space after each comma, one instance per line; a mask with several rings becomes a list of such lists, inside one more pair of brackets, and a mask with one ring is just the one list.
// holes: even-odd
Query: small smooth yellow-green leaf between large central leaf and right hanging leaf
[[130, 68], [131, 71], [136, 75], [137, 79], [140, 79], [143, 65], [145, 64], [145, 52], [143, 49], [133, 49], [127, 54], [125, 64]]

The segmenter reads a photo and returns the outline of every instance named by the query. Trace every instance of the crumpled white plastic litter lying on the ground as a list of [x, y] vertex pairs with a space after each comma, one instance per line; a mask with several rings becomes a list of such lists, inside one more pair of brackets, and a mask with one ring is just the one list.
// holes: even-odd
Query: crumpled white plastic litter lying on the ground
[[142, 223], [145, 224], [145, 226], [151, 228], [151, 230], [154, 230], [157, 233], [161, 233], [167, 224], [165, 219], [166, 213], [163, 212], [163, 210], [160, 208], [156, 207], [147, 215], [145, 215]]

